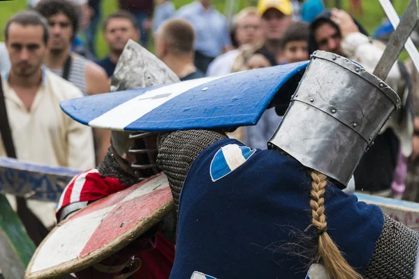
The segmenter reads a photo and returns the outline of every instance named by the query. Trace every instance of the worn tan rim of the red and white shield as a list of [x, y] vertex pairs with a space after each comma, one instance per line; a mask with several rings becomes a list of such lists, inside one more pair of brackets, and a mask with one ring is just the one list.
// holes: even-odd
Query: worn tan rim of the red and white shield
[[[85, 210], [86, 207], [79, 212]], [[159, 209], [154, 211], [151, 216], [142, 219], [133, 229], [125, 232], [124, 234], [118, 236], [116, 239], [111, 241], [107, 246], [103, 246], [94, 252], [91, 252], [89, 255], [83, 257], [82, 259], [72, 259], [71, 261], [64, 262], [59, 266], [51, 267], [49, 269], [44, 269], [42, 271], [36, 271], [31, 273], [31, 267], [34, 263], [34, 259], [36, 255], [38, 255], [38, 251], [43, 246], [43, 243], [47, 241], [48, 236], [53, 234], [58, 227], [64, 225], [68, 220], [64, 220], [63, 222], [59, 223], [57, 227], [54, 227], [50, 234], [42, 241], [42, 243], [36, 249], [34, 256], [31, 258], [31, 262], [29, 262], [25, 278], [27, 279], [43, 279], [43, 278], [57, 278], [58, 276], [62, 276], [64, 274], [73, 273], [76, 271], [81, 271], [86, 269], [87, 267], [91, 266], [92, 264], [96, 264], [97, 262], [101, 262], [103, 259], [110, 257], [111, 255], [115, 254], [115, 252], [121, 250], [129, 243], [134, 241], [141, 236], [141, 234], [147, 232], [148, 229], [159, 223], [159, 221], [171, 210], [175, 209], [175, 204], [173, 199], [170, 199], [168, 202], [163, 204]]]

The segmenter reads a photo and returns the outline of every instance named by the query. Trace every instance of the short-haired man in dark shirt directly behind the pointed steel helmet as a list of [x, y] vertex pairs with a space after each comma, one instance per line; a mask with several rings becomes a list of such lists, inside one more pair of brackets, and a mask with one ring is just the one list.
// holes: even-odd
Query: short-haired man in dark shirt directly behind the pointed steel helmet
[[97, 63], [105, 69], [108, 77], [111, 77], [126, 43], [129, 39], [137, 42], [140, 39], [140, 31], [133, 15], [121, 10], [105, 20], [103, 36], [108, 43], [109, 54]]

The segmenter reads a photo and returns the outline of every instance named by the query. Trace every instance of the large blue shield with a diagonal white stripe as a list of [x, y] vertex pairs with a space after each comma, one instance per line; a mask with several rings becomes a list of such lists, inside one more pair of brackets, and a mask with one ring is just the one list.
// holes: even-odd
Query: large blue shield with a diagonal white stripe
[[[61, 102], [94, 128], [163, 131], [255, 125], [275, 94], [291, 99], [309, 61]], [[284, 86], [293, 82], [294, 86]]]

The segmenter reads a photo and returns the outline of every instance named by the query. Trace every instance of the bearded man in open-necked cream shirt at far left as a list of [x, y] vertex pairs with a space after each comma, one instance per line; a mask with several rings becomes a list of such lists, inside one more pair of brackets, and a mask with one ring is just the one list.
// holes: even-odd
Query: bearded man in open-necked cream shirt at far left
[[[0, 89], [4, 97], [0, 98], [5, 99], [8, 116], [1, 121], [9, 123], [16, 158], [50, 166], [93, 167], [91, 128], [73, 121], [59, 108], [62, 100], [80, 98], [82, 93], [42, 67], [49, 39], [45, 19], [34, 11], [18, 13], [6, 24], [4, 38], [11, 67], [1, 76]], [[13, 156], [10, 155], [13, 151], [6, 151], [6, 146], [10, 144], [1, 140], [0, 156]], [[15, 198], [9, 201], [16, 208]], [[55, 203], [34, 200], [27, 203], [45, 227], [55, 225]], [[17, 199], [17, 211], [23, 208], [26, 208], [25, 201]], [[34, 227], [25, 222], [25, 218], [34, 220], [34, 216], [23, 217], [20, 215], [29, 236], [38, 245], [45, 236], [41, 231], [45, 229], [34, 232]]]

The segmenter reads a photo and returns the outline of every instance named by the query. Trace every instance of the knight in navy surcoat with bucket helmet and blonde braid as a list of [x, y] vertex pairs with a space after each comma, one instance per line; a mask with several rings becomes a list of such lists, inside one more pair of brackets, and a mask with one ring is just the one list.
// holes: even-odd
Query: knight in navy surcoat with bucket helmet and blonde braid
[[178, 216], [170, 278], [413, 278], [419, 233], [344, 193], [400, 103], [358, 64], [318, 52], [267, 150], [224, 130], [162, 133]]

